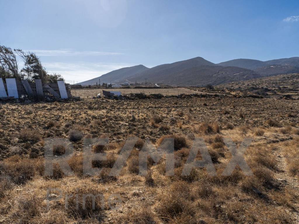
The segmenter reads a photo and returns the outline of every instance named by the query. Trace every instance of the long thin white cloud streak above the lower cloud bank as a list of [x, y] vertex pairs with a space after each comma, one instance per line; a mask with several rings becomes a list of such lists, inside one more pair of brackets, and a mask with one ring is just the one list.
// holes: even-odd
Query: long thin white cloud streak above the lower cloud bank
[[106, 55], [122, 55], [119, 52], [106, 51], [80, 51], [74, 49], [58, 49], [58, 50], [28, 50], [35, 52], [38, 56], [106, 56]]

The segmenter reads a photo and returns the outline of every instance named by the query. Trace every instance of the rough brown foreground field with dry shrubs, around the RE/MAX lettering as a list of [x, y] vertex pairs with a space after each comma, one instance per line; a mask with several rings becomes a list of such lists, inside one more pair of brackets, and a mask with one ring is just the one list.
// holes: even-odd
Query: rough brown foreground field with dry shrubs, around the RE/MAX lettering
[[[85, 91], [77, 95], [90, 98]], [[0, 104], [0, 223], [298, 223], [298, 110], [297, 100], [221, 96]], [[104, 162], [93, 163], [103, 171], [85, 177], [83, 139], [103, 136], [109, 144], [93, 148], [107, 154]], [[128, 136], [139, 140], [120, 175], [111, 177], [109, 170]], [[158, 163], [149, 159], [147, 176], [138, 175], [144, 141], [157, 146], [167, 136], [175, 138], [175, 175], [165, 175], [165, 158]], [[68, 164], [74, 176], [66, 177], [59, 166], [53, 176], [44, 175], [48, 137], [73, 142], [75, 155]], [[195, 137], [205, 140], [216, 176], [205, 168], [180, 175]], [[244, 156], [253, 176], [238, 166], [223, 176], [231, 159], [223, 139], [239, 146], [245, 137], [253, 139]], [[60, 147], [54, 152], [63, 154]], [[200, 153], [196, 158], [201, 159]], [[51, 195], [55, 200], [49, 209], [48, 188], [62, 193], [61, 198]], [[65, 197], [76, 193], [103, 194], [104, 202], [96, 200], [93, 210], [89, 200], [83, 209], [80, 196]], [[121, 197], [117, 210], [107, 204], [111, 194]]]

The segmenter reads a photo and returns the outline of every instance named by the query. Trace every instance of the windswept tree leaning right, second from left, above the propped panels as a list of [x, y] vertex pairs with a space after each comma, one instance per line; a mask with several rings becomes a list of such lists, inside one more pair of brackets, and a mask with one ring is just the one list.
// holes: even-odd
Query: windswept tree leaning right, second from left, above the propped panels
[[16, 53], [23, 59], [24, 68], [22, 72], [30, 79], [42, 79], [42, 82], [47, 80], [47, 72], [42, 66], [39, 57], [33, 52], [24, 52], [20, 49], [15, 49]]

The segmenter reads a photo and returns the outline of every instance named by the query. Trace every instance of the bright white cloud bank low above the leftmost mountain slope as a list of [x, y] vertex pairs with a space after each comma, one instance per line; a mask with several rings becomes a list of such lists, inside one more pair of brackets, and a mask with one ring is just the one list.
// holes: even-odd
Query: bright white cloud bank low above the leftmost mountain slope
[[62, 63], [62, 62], [45, 62], [43, 63], [48, 73], [59, 73], [65, 80], [74, 80], [83, 82], [96, 78], [113, 70], [123, 67], [133, 66], [125, 63]]

